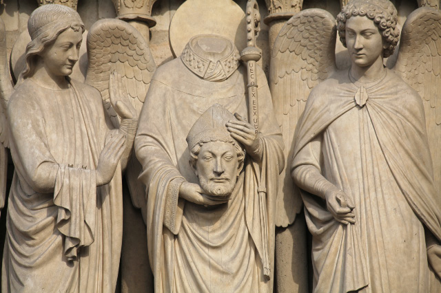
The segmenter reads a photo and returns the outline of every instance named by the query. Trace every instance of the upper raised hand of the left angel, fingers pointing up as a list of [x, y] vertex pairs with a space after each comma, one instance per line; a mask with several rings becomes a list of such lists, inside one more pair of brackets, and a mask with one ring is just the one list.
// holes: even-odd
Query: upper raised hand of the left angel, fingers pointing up
[[112, 72], [109, 76], [110, 103], [121, 119], [137, 119], [138, 115], [132, 106], [121, 74]]

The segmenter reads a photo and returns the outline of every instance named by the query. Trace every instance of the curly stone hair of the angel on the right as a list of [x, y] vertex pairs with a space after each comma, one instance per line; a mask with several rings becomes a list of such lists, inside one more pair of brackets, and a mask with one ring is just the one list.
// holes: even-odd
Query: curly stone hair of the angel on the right
[[400, 40], [400, 29], [397, 28], [398, 12], [389, 0], [352, 0], [343, 7], [337, 16], [337, 30], [340, 41], [346, 47], [346, 21], [350, 17], [367, 17], [375, 23], [383, 39], [389, 44], [384, 49], [383, 57], [389, 57]]

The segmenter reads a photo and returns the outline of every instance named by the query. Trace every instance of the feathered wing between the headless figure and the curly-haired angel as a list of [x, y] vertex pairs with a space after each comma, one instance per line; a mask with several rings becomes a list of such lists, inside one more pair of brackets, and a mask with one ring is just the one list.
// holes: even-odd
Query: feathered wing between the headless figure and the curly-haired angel
[[274, 42], [269, 87], [287, 160], [280, 174], [277, 226], [292, 224], [302, 209], [289, 169], [294, 131], [311, 89], [336, 70], [336, 32], [336, 20], [329, 12], [307, 9], [291, 17]]

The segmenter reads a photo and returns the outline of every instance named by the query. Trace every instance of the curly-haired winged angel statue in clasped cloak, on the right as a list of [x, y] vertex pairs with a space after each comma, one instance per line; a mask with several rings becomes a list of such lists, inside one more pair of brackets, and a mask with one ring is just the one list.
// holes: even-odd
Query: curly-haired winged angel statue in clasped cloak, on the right
[[[288, 160], [312, 235], [314, 292], [436, 292], [441, 285], [441, 197], [426, 130], [431, 113], [424, 115], [420, 96], [436, 100], [441, 89], [441, 17], [431, 8], [409, 15], [392, 71], [383, 58], [398, 43], [397, 18], [388, 0], [350, 1], [337, 21], [305, 10], [274, 45], [283, 132], [298, 120]], [[337, 30], [351, 58], [342, 71]], [[415, 83], [427, 85], [418, 94]], [[439, 127], [429, 123], [429, 132]]]

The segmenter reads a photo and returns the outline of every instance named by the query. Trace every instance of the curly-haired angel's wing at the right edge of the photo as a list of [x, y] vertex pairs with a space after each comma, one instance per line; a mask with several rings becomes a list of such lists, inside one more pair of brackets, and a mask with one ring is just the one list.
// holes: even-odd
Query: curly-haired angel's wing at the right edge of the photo
[[[441, 12], [413, 11], [403, 25], [395, 72], [422, 97], [433, 159], [435, 185], [441, 191]], [[440, 193], [441, 195], [441, 193]]]

